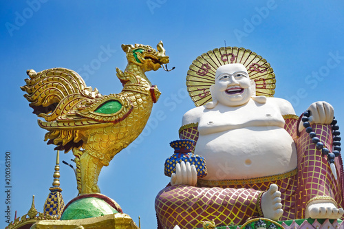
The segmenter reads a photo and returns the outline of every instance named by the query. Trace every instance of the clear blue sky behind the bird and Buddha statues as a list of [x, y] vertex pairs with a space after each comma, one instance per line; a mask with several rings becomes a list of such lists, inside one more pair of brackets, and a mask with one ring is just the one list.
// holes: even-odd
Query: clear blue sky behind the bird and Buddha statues
[[[292, 102], [299, 115], [315, 101], [333, 105], [343, 127], [343, 1], [1, 1], [1, 187], [5, 152], [12, 156], [12, 216], [36, 208], [52, 186], [56, 154], [43, 142], [45, 131], [23, 98], [27, 69], [65, 67], [78, 72], [101, 94], [118, 93], [116, 67], [125, 69], [120, 45], [161, 40], [172, 72], [148, 72], [162, 95], [151, 120], [129, 148], [100, 173], [103, 194], [115, 199], [142, 228], [155, 228], [155, 195], [166, 186], [164, 160], [178, 139], [182, 115], [194, 107], [186, 93], [186, 72], [200, 54], [215, 47], [245, 47], [275, 70], [275, 97]], [[98, 60], [107, 50], [107, 60]], [[61, 154], [69, 161], [72, 153]], [[65, 203], [77, 195], [74, 173], [61, 164]], [[3, 188], [4, 189], [4, 188]], [[6, 209], [0, 192], [1, 212]], [[12, 218], [13, 219], [13, 218]], [[3, 213], [0, 223], [7, 226]]]

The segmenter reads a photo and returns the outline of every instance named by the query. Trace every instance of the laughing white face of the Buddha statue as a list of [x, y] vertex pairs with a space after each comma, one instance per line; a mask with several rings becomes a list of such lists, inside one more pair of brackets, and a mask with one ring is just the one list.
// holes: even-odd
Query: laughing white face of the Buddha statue
[[244, 65], [222, 65], [216, 70], [211, 95], [222, 105], [236, 107], [246, 104], [255, 94], [255, 82], [250, 80]]

